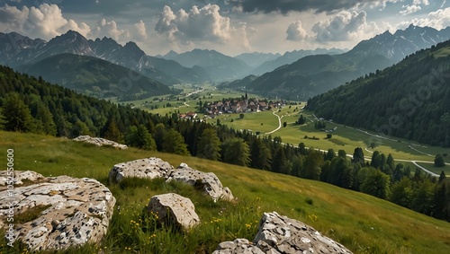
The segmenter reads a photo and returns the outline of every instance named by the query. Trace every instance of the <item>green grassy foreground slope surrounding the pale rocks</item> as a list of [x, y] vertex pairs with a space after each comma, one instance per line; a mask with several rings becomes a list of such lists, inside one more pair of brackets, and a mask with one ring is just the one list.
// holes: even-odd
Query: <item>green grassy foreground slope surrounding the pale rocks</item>
[[[193, 232], [181, 235], [161, 230], [139, 231], [139, 235], [136, 235], [136, 229], [127, 226], [130, 218], [139, 220], [140, 209], [147, 205], [149, 197], [174, 187], [156, 188], [149, 184], [150, 188], [138, 186], [122, 189], [109, 186], [118, 200], [117, 206], [126, 207], [121, 208], [121, 213], [114, 213], [112, 225], [115, 230], [113, 228], [101, 243], [101, 248], [114, 253], [134, 253], [135, 250], [140, 250], [140, 253], [175, 253], [180, 248], [177, 246], [180, 242], [186, 243], [184, 253], [206, 253], [214, 250], [220, 241], [236, 237], [251, 241], [257, 232], [256, 221], [265, 211], [277, 211], [281, 215], [309, 223], [356, 253], [450, 251], [450, 223], [319, 181], [174, 154], [135, 149], [120, 151], [62, 138], [0, 132], [0, 154], [3, 158], [8, 148], [15, 151], [15, 170], [38, 171], [44, 176], [66, 174], [90, 177], [104, 183], [112, 165], [118, 162], [149, 156], [160, 157], [175, 166], [187, 162], [194, 169], [216, 173], [223, 185], [229, 186], [235, 197], [238, 197], [237, 204], [219, 202], [217, 205], [205, 201], [205, 198], [195, 195], [191, 190], [175, 188], [175, 191], [193, 198], [197, 213], [204, 223]], [[307, 198], [312, 199], [312, 205], [306, 202]], [[226, 212], [219, 215], [221, 211]], [[147, 238], [148, 242], [144, 241]], [[159, 243], [164, 243], [164, 247], [160, 247]], [[149, 249], [142, 248], [145, 244], [148, 244]], [[127, 246], [131, 249], [124, 250]], [[158, 246], [158, 249], [151, 249], [151, 246]], [[2, 248], [0, 253], [4, 251]], [[89, 250], [74, 253], [82, 251]]]

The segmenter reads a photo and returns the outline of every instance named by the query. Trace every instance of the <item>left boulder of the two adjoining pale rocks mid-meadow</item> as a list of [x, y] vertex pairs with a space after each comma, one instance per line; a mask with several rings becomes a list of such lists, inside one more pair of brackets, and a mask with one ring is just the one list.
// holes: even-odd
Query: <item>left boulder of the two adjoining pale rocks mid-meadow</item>
[[155, 157], [140, 159], [132, 162], [123, 162], [114, 165], [109, 173], [110, 182], [120, 182], [123, 178], [166, 178], [174, 167], [168, 162]]

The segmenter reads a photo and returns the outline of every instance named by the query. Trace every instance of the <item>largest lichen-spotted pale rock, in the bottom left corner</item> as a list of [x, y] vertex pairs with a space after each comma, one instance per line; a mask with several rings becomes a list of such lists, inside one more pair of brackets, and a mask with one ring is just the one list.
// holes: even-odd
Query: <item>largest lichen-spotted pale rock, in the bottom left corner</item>
[[[14, 171], [14, 175], [30, 180], [23, 186], [16, 181], [13, 196], [7, 186], [0, 186], [0, 220], [14, 209], [14, 241], [23, 241], [33, 251], [65, 250], [98, 242], [107, 232], [115, 198], [99, 181], [43, 178], [31, 171]], [[24, 213], [36, 218], [25, 221], [27, 216], [20, 216]]]

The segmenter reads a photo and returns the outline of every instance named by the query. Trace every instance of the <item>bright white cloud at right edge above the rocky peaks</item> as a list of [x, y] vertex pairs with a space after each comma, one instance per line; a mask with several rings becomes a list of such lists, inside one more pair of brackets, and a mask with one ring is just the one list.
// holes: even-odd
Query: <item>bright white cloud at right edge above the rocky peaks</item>
[[439, 9], [436, 12], [428, 13], [426, 18], [421, 19], [413, 19], [407, 22], [401, 22], [397, 26], [398, 29], [406, 28], [410, 24], [414, 24], [416, 26], [428, 26], [433, 27], [435, 29], [444, 29], [447, 26], [450, 26], [450, 7], [446, 9]]

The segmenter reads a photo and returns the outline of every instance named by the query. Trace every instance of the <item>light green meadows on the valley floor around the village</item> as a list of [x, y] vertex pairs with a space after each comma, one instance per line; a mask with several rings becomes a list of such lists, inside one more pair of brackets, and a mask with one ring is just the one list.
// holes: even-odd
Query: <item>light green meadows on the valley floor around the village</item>
[[[204, 102], [220, 101], [222, 98], [240, 98], [245, 93], [229, 90], [218, 91], [216, 87], [211, 84], [202, 85], [201, 87], [190, 84], [180, 84], [175, 86], [175, 88], [184, 90], [184, 94], [199, 91], [199, 89], [201, 92], [184, 97], [186, 100], [185, 104], [189, 106], [186, 106], [184, 101], [157, 101], [145, 104], [145, 101], [152, 101], [154, 98], [148, 98], [141, 101], [127, 101], [126, 103], [133, 103], [141, 109], [146, 109], [161, 115], [171, 115], [178, 111], [180, 113], [195, 111], [195, 107], [197, 106], [196, 103], [200, 100]], [[205, 99], [203, 99], [203, 96]], [[248, 97], [255, 98], [257, 95], [249, 94]], [[183, 96], [180, 96], [179, 98], [183, 98]], [[167, 102], [173, 104], [173, 107], [165, 108]], [[279, 127], [278, 117], [272, 110], [248, 112], [244, 114], [244, 118], [242, 119], [239, 118], [238, 114], [224, 114], [217, 118], [206, 119], [206, 121], [215, 125], [217, 119], [219, 119], [221, 124], [228, 125], [237, 130], [247, 129], [251, 130], [254, 134], [258, 132], [261, 136], [268, 135], [268, 133], [270, 133], [272, 137], [281, 136], [284, 144], [299, 145], [300, 143], [304, 143], [306, 147], [313, 147], [320, 150], [332, 148], [335, 152], [342, 149], [345, 150], [347, 154], [353, 154], [356, 147], [362, 147], [367, 159], [372, 157], [372, 153], [374, 153], [375, 150], [380, 153], [385, 153], [386, 155], [391, 153], [396, 160], [424, 162], [433, 162], [437, 153], [448, 153], [448, 149], [442, 147], [419, 145], [396, 137], [376, 136], [376, 134], [366, 132], [365, 130], [342, 126], [330, 121], [326, 122], [326, 129], [334, 130], [329, 132], [332, 134], [332, 138], [326, 138], [327, 132], [320, 131], [320, 129], [314, 127], [314, 121], [316, 121], [317, 118], [313, 116], [311, 112], [302, 110], [305, 102], [298, 102], [300, 103], [299, 105], [275, 109], [275, 114], [281, 118], [282, 125], [284, 122], [287, 124], [286, 127], [281, 127], [278, 130], [276, 130]], [[148, 109], [149, 106], [155, 105], [158, 105], [158, 109]], [[300, 114], [307, 118], [306, 124], [302, 126], [294, 124], [300, 117]], [[202, 116], [202, 114], [199, 114], [199, 118], [202, 118]], [[312, 137], [315, 138], [313, 139]], [[369, 148], [373, 143], [375, 145], [374, 149]], [[426, 164], [425, 168], [428, 169], [428, 166], [429, 165]], [[433, 169], [429, 170], [433, 171]]]

